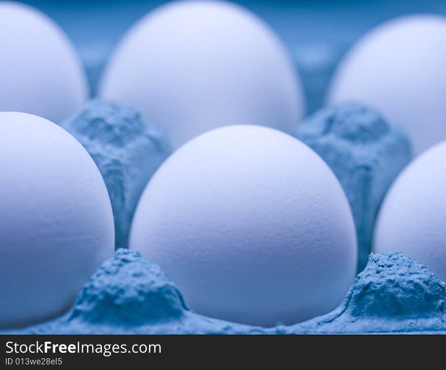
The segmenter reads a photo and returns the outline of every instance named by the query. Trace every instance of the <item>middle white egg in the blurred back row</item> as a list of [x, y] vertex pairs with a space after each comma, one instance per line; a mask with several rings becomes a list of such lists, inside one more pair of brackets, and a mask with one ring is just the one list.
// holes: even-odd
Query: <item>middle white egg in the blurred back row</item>
[[304, 112], [301, 82], [280, 40], [226, 2], [174, 2], [147, 14], [110, 57], [99, 95], [163, 125], [173, 149], [226, 125], [290, 132]]

